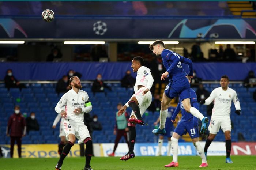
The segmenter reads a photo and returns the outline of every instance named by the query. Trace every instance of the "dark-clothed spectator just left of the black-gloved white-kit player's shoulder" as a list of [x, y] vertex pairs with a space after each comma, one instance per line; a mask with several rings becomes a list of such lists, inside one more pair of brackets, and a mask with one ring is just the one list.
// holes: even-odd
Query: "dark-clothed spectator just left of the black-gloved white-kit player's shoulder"
[[[208, 92], [203, 84], [199, 84], [198, 89], [196, 90], [196, 95], [197, 95], [197, 101], [205, 100], [210, 96], [210, 92]], [[207, 115], [211, 116], [212, 114], [212, 108], [213, 108], [213, 102], [210, 105], [207, 105]]]

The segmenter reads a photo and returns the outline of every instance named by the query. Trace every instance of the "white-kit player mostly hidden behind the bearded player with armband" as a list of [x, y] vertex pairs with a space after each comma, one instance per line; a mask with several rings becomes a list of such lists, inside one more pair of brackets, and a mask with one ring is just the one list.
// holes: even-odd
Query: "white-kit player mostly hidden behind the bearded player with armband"
[[61, 155], [63, 147], [65, 146], [65, 144], [67, 144], [66, 134], [64, 132], [64, 127], [63, 127], [64, 118], [61, 117], [61, 114], [57, 114], [52, 124], [52, 128], [55, 129], [59, 121], [60, 121], [60, 134], [59, 134], [60, 143], [58, 144], [58, 154]]

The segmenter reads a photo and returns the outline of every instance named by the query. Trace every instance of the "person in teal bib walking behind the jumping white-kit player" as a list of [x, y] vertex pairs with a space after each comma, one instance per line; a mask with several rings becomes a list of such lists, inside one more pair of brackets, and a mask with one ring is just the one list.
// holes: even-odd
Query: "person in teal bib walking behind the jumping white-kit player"
[[114, 127], [114, 132], [113, 132], [114, 135], [116, 135], [116, 140], [115, 140], [114, 150], [112, 153], [108, 154], [108, 156], [115, 156], [117, 145], [122, 136], [124, 136], [124, 139], [129, 147], [129, 142], [127, 139], [127, 133], [129, 131], [129, 129], [127, 127], [129, 114], [128, 114], [128, 112], [123, 113], [121, 116], [118, 116], [118, 114], [117, 114], [118, 110], [121, 109], [122, 106], [123, 106], [122, 103], [117, 104], [116, 125]]

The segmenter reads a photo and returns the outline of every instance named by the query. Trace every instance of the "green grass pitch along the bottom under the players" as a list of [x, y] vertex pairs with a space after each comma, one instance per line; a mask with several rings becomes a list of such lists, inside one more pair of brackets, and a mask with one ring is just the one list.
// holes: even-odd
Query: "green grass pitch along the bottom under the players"
[[[93, 157], [91, 168], [94, 170], [196, 170], [199, 169], [201, 159], [199, 156], [179, 156], [178, 168], [165, 168], [172, 157], [168, 156], [141, 156], [127, 161], [119, 157], [99, 158]], [[225, 163], [225, 156], [208, 156], [207, 170], [256, 170], [256, 156], [231, 156], [233, 164]], [[54, 170], [58, 158], [22, 158], [0, 159], [1, 170]], [[61, 170], [82, 170], [84, 158], [66, 158]], [[200, 168], [201, 169], [201, 168]]]

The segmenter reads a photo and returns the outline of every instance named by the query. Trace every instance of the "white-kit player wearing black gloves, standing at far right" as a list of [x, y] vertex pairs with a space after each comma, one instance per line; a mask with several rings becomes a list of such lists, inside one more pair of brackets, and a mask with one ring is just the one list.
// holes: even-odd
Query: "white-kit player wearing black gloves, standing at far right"
[[221, 87], [215, 88], [211, 95], [206, 100], [201, 100], [200, 104], [210, 105], [214, 101], [214, 106], [212, 109], [212, 116], [209, 125], [210, 135], [206, 140], [204, 146], [204, 153], [207, 154], [207, 149], [211, 142], [214, 140], [216, 134], [219, 132], [219, 128], [225, 134], [226, 139], [226, 163], [233, 163], [230, 159], [231, 152], [231, 120], [230, 120], [230, 107], [231, 101], [234, 102], [236, 107], [235, 113], [240, 115], [241, 107], [240, 102], [237, 98], [237, 93], [233, 89], [229, 88], [229, 77], [224, 75], [221, 77]]

